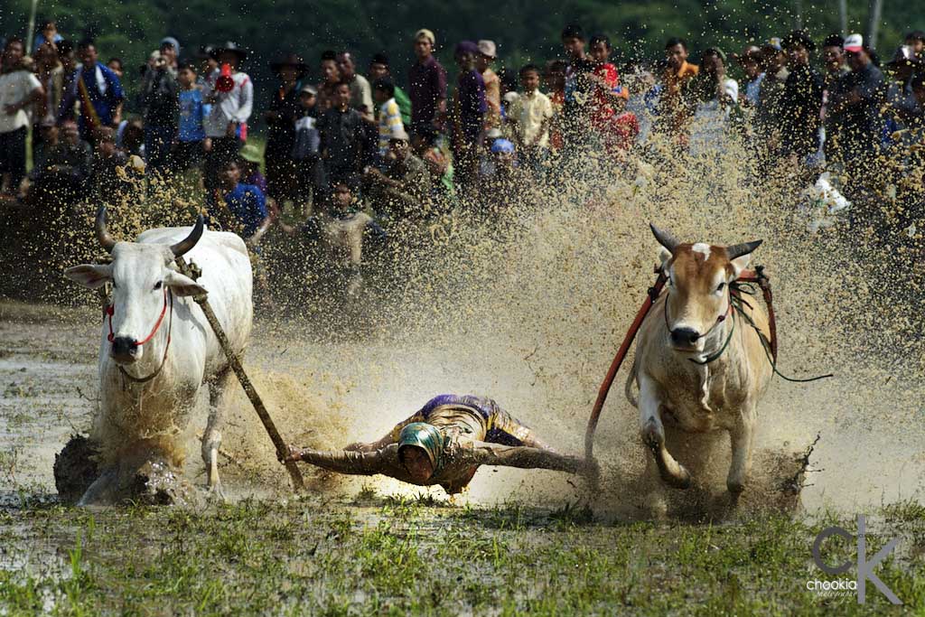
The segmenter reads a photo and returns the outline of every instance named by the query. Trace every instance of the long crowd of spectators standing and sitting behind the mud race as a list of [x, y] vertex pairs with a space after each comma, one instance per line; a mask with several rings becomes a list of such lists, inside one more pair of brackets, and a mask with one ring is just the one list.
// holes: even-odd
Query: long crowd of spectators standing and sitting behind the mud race
[[[3, 47], [2, 199], [111, 198], [142, 169], [167, 179], [196, 169], [215, 224], [255, 244], [287, 204], [303, 219], [364, 211], [379, 231], [454, 207], [487, 215], [516, 182], [554, 179], [563, 160], [593, 151], [626, 164], [658, 136], [694, 154], [742, 139], [760, 160], [807, 177], [842, 174], [858, 199], [885, 158], [902, 173], [922, 165], [920, 31], [885, 62], [859, 34], [817, 44], [794, 31], [736, 54], [709, 46], [696, 59], [672, 38], [659, 60], [618, 69], [608, 36], [570, 24], [560, 59], [514, 70], [496, 72], [492, 41], [456, 43], [452, 84], [435, 33], [416, 31], [411, 43], [415, 60], [402, 68], [384, 53], [364, 64], [332, 50], [313, 71], [282, 53], [270, 65], [277, 82], [255, 84], [247, 49], [189, 52], [166, 36], [128, 100], [123, 80], [133, 78], [119, 58], [102, 62], [93, 41], [74, 43], [48, 22], [31, 54], [16, 37]], [[255, 90], [272, 92], [262, 112]], [[265, 129], [264, 152], [251, 127]]]

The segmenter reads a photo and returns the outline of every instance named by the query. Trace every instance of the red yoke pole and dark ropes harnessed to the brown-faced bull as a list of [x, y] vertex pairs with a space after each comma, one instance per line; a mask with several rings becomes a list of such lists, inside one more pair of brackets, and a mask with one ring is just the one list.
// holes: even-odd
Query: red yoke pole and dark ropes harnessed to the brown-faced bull
[[[620, 349], [613, 357], [611, 368], [607, 371], [607, 376], [604, 376], [603, 383], [600, 384], [600, 389], [598, 390], [598, 400], [594, 402], [594, 408], [591, 410], [591, 417], [588, 418], [587, 430], [585, 432], [585, 456], [588, 460], [591, 459], [591, 455], [594, 450], [594, 432], [598, 428], [600, 411], [604, 407], [604, 401], [607, 401], [607, 395], [611, 391], [613, 379], [617, 376], [617, 372], [620, 370], [620, 366], [623, 364], [623, 359], [626, 357], [627, 352], [630, 350], [630, 345], [633, 344], [633, 339], [635, 339], [635, 335], [639, 331], [639, 327], [642, 326], [642, 322], [646, 319], [646, 315], [648, 315], [649, 310], [652, 308], [652, 304], [658, 299], [662, 288], [665, 286], [665, 281], [667, 278], [665, 277], [664, 272], [662, 272], [661, 268], [659, 267], [657, 267], [655, 271], [659, 275], [659, 278], [656, 279], [655, 285], [648, 288], [648, 297], [646, 298], [646, 302], [643, 302], [639, 312], [636, 313], [635, 319], [633, 320], [633, 325], [630, 326], [629, 330], [627, 330], [626, 336], [623, 338], [623, 343], [620, 345]], [[764, 302], [768, 306], [768, 329], [770, 330], [771, 339], [769, 340], [765, 338], [764, 333], [759, 330], [759, 327], [748, 317], [748, 315], [746, 315], [746, 313], [739, 312], [739, 315], [746, 317], [749, 325], [754, 327], [755, 331], [758, 332], [761, 345], [768, 356], [768, 361], [771, 363], [771, 369], [776, 375], [783, 377], [783, 379], [786, 379], [787, 381], [796, 382], [815, 381], [816, 379], [824, 379], [825, 377], [832, 376], [830, 374], [811, 377], [809, 379], [794, 379], [781, 375], [777, 371], [777, 322], [774, 318], [774, 304], [773, 296], [771, 295], [771, 281], [764, 274], [764, 268], [759, 265], [755, 267], [755, 270], [744, 270], [742, 274], [739, 275], [739, 278], [734, 280], [734, 283], [757, 283], [761, 288], [761, 293], [764, 296]], [[740, 290], [730, 290], [730, 292], [738, 294]], [[730, 302], [730, 308], [727, 310], [727, 313], [721, 315], [717, 320], [717, 324], [722, 323], [722, 321], [726, 318], [726, 315], [728, 315], [728, 312], [731, 310], [732, 302]], [[714, 324], [714, 327], [715, 326], [716, 324]]]

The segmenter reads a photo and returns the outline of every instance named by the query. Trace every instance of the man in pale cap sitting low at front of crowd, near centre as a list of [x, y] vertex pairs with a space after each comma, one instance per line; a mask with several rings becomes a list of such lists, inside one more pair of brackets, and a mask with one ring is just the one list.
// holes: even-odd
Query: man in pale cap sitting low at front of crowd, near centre
[[421, 218], [430, 205], [430, 174], [424, 161], [411, 151], [410, 142], [403, 128], [393, 129], [384, 157], [385, 171], [368, 167], [364, 173], [376, 214], [386, 219]]

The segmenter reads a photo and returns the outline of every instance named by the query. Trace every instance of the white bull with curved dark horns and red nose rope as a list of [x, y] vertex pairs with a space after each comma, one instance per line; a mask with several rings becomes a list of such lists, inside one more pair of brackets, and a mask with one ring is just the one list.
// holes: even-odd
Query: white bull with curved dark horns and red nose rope
[[[177, 436], [189, 426], [203, 383], [208, 385], [210, 404], [203, 461], [208, 485], [220, 496], [217, 456], [230, 367], [191, 296], [208, 292], [232, 349], [243, 353], [253, 322], [247, 248], [235, 234], [203, 230], [202, 216], [193, 228], [149, 229], [136, 242], [117, 242], [107, 233], [105, 208], [100, 208], [96, 235], [112, 254], [112, 263], [76, 265], [65, 271], [85, 287], [111, 282], [113, 290], [100, 341], [100, 408], [91, 429], [91, 439], [101, 450], [102, 474], [80, 504], [119, 499], [126, 476], [149, 455], [182, 464]], [[202, 268], [196, 281], [180, 274], [174, 264], [184, 254]]]

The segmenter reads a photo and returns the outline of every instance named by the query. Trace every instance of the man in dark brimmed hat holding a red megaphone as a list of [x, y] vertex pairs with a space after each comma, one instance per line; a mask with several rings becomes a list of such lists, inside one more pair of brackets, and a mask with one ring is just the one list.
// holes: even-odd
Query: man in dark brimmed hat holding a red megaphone
[[[205, 166], [203, 179], [208, 191], [216, 189], [219, 172], [247, 139], [247, 120], [253, 110], [253, 83], [247, 73], [238, 70], [247, 52], [234, 43], [212, 50], [218, 68], [203, 87], [203, 98], [212, 105], [205, 118]], [[230, 76], [222, 75], [228, 66]], [[226, 79], [220, 79], [220, 78]], [[230, 81], [227, 78], [230, 77]]]

